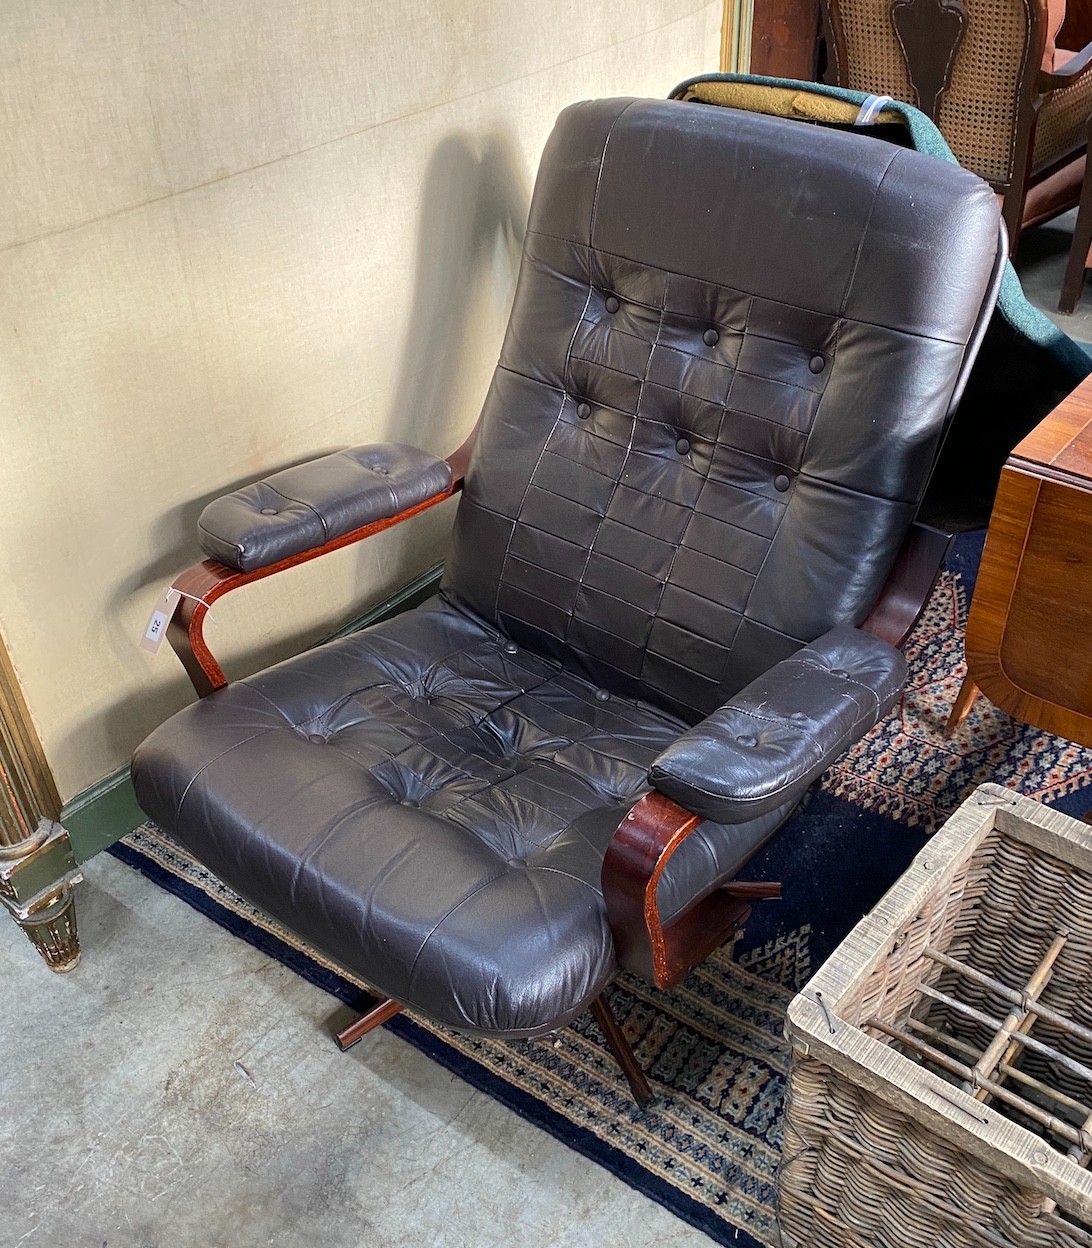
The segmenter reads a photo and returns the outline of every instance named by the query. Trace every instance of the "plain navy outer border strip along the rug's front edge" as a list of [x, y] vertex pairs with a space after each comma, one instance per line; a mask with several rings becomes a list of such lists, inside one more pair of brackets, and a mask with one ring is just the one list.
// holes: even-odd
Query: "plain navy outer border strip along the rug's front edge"
[[[374, 1003], [374, 997], [369, 997], [362, 992], [354, 983], [349, 983], [348, 980], [343, 978], [336, 971], [327, 970], [307, 953], [286, 943], [280, 936], [265, 931], [242, 915], [237, 915], [233, 910], [230, 910], [196, 885], [168, 871], [140, 850], [117, 841], [109, 846], [106, 852], [132, 870], [139, 871], [145, 879], [166, 892], [185, 901], [191, 909], [205, 915], [206, 919], [211, 919], [212, 922], [223, 927], [232, 936], [246, 941], [247, 945], [281, 962], [282, 966], [286, 966], [295, 975], [322, 988], [323, 992], [329, 993], [344, 1005], [363, 1011]], [[493, 1075], [479, 1062], [447, 1045], [438, 1036], [413, 1022], [406, 1015], [396, 1015], [394, 1018], [383, 1026], [401, 1040], [413, 1045], [414, 1048], [424, 1053], [426, 1057], [434, 1061], [438, 1066], [463, 1080], [463, 1082], [469, 1083], [479, 1092], [487, 1093], [494, 1101], [505, 1106], [505, 1108], [512, 1109], [513, 1113], [525, 1122], [545, 1131], [547, 1134], [553, 1136], [554, 1139], [560, 1141], [568, 1148], [609, 1171], [628, 1187], [655, 1201], [656, 1204], [663, 1206], [669, 1213], [708, 1236], [714, 1243], [731, 1246], [731, 1248], [764, 1248], [760, 1241], [755, 1239], [754, 1236], [741, 1227], [734, 1226], [725, 1218], [719, 1218], [706, 1206], [686, 1196], [685, 1192], [668, 1183], [665, 1179], [653, 1174], [639, 1162], [628, 1157], [620, 1148], [615, 1148], [614, 1144], [600, 1139], [585, 1127], [578, 1127], [569, 1122], [557, 1109], [552, 1109], [530, 1093]]]

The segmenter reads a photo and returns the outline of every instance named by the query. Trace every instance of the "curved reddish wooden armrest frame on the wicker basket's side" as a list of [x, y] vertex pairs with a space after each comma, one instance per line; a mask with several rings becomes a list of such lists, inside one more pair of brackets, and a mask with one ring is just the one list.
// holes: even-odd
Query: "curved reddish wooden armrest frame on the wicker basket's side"
[[739, 929], [750, 901], [780, 897], [781, 885], [729, 880], [665, 924], [656, 889], [671, 855], [701, 822], [653, 790], [623, 819], [603, 859], [603, 897], [618, 960], [669, 988]]

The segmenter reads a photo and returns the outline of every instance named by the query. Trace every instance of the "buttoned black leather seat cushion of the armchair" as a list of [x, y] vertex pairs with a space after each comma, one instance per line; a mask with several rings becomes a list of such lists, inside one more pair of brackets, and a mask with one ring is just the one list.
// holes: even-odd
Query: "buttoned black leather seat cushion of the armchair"
[[[141, 746], [140, 799], [384, 992], [463, 1031], [529, 1036], [618, 972], [603, 852], [685, 726], [434, 599], [168, 720]], [[661, 881], [665, 914], [733, 876], [785, 814], [704, 824]]]

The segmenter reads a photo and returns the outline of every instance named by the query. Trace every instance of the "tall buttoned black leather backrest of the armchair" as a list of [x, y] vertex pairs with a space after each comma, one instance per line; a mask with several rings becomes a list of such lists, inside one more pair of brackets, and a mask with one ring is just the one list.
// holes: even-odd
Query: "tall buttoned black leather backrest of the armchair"
[[678, 101], [568, 109], [446, 590], [694, 720], [876, 599], [988, 287], [953, 165]]

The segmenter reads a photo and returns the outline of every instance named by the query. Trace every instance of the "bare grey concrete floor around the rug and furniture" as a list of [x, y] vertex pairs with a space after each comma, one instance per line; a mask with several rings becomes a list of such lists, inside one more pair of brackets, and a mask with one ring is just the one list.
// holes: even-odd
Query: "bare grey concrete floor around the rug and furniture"
[[[1020, 268], [1053, 314], [1072, 215]], [[1092, 342], [1092, 293], [1056, 317]], [[0, 1248], [341, 1248], [709, 1241], [110, 857], [84, 961], [0, 921]], [[238, 1063], [238, 1065], [236, 1065]]]

